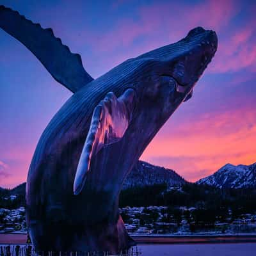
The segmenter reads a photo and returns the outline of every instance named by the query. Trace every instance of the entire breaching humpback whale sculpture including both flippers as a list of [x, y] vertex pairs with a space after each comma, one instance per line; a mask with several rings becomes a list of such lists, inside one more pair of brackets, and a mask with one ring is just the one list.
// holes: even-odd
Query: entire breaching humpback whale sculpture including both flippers
[[214, 31], [131, 58], [93, 79], [51, 29], [0, 6], [0, 27], [74, 93], [43, 132], [26, 187], [36, 250], [118, 252], [134, 244], [118, 212], [122, 184], [217, 49]]

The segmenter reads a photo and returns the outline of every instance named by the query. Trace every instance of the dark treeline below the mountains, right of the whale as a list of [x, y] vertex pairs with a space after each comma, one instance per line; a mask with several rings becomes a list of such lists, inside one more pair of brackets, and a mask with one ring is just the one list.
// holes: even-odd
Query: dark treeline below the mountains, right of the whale
[[[125, 189], [120, 193], [120, 207], [166, 205], [196, 207], [208, 216], [233, 216], [256, 211], [256, 189], [218, 189], [206, 185], [184, 184], [168, 191], [166, 184]], [[205, 212], [207, 211], [207, 212]], [[199, 212], [198, 212], [199, 213]]]

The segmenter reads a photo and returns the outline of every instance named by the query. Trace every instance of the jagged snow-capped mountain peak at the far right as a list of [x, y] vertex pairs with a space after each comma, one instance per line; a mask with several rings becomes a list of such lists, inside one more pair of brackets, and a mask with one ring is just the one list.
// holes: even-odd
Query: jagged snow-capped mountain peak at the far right
[[196, 183], [217, 188], [256, 188], [256, 163], [237, 166], [225, 164], [214, 174], [200, 179]]

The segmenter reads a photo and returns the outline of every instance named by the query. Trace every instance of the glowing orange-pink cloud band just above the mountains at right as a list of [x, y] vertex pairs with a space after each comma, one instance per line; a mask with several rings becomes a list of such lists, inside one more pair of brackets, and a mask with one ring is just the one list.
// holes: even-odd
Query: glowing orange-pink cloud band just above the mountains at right
[[141, 159], [173, 168], [191, 181], [226, 163], [256, 161], [256, 145], [252, 143], [256, 138], [255, 109], [203, 114], [193, 121], [170, 124], [159, 131]]

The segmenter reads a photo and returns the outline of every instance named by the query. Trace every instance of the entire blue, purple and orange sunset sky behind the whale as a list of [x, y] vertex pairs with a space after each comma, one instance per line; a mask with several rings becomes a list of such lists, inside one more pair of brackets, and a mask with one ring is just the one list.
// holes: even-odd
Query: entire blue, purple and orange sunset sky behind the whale
[[[141, 159], [187, 180], [226, 163], [256, 162], [256, 2], [3, 1], [81, 54], [94, 78], [171, 44], [196, 26], [215, 30], [216, 56]], [[72, 95], [0, 29], [0, 186], [24, 182], [40, 135]]]

